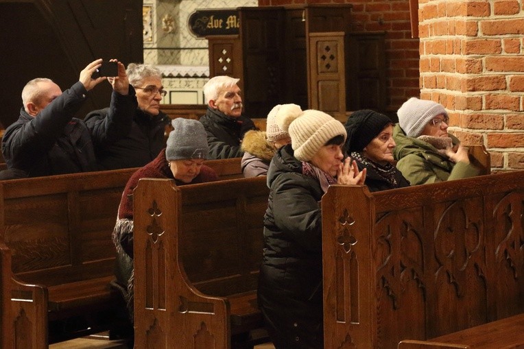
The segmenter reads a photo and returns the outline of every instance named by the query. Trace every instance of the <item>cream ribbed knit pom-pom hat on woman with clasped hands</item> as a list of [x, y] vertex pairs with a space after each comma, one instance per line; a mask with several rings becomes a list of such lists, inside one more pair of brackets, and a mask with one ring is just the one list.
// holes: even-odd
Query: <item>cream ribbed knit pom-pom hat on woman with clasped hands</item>
[[298, 160], [311, 160], [333, 137], [344, 136], [346, 140], [344, 125], [325, 112], [309, 109], [298, 113], [296, 108], [284, 107], [276, 113], [276, 123], [279, 128], [289, 132], [291, 146]]

